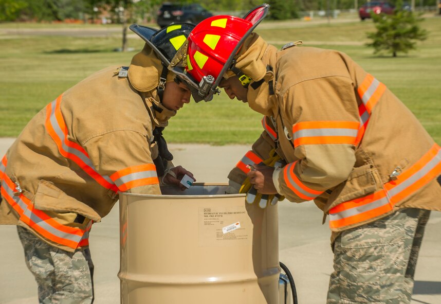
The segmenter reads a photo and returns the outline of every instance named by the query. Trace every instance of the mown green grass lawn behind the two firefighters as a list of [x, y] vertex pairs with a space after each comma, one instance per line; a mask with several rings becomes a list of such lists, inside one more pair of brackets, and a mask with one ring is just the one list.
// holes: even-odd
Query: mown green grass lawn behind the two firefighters
[[[441, 18], [428, 17], [422, 26], [429, 31], [428, 40], [419, 43], [418, 50], [399, 54], [398, 58], [373, 56], [373, 50], [363, 45], [367, 41], [365, 32], [374, 30], [370, 20], [329, 25], [296, 21], [296, 27], [258, 27], [256, 31], [277, 47], [303, 40], [304, 45], [346, 52], [385, 83], [441, 144]], [[81, 25], [55, 27], [62, 30]], [[118, 33], [103, 38], [11, 33], [18, 28], [53, 27], [0, 24], [0, 137], [17, 136], [35, 113], [67, 88], [106, 66], [128, 65], [136, 53], [113, 51], [120, 47]], [[143, 45], [136, 37], [129, 43], [136, 50]], [[164, 133], [169, 142], [249, 144], [262, 132], [261, 118], [247, 104], [222, 93], [211, 102], [186, 105]]]

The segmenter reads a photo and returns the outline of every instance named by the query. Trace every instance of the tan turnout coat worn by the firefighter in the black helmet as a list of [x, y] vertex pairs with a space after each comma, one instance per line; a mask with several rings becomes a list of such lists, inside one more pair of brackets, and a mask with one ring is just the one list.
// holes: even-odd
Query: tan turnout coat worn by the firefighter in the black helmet
[[[158, 119], [152, 104], [158, 100], [161, 68], [145, 46], [133, 58], [128, 77], [118, 76], [118, 66], [105, 68], [36, 114], [3, 159], [0, 223], [24, 226], [44, 241], [73, 251], [75, 245], [46, 238], [35, 223], [50, 218], [54, 227], [63, 225], [61, 230], [88, 230], [91, 221], [99, 222], [112, 209], [118, 191], [160, 194], [152, 132], [166, 126], [168, 117], [164, 109]], [[170, 111], [169, 116], [174, 114]], [[112, 185], [127, 170], [150, 177], [136, 180], [126, 175], [130, 182]], [[28, 204], [24, 215], [12, 207], [14, 200]], [[26, 213], [30, 209], [44, 214], [31, 217]]]

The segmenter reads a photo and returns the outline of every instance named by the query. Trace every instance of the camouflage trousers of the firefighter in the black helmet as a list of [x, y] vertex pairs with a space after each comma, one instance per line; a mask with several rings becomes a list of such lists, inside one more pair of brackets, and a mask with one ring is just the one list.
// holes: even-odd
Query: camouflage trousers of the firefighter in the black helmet
[[94, 264], [88, 248], [71, 253], [53, 247], [17, 226], [26, 265], [38, 284], [39, 302], [86, 304], [94, 302]]

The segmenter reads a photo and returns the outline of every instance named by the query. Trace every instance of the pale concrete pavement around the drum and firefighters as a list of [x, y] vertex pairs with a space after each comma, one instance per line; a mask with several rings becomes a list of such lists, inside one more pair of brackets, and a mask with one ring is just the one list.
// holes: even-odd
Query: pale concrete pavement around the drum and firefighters
[[[0, 155], [12, 144], [0, 138]], [[198, 182], [225, 183], [229, 170], [248, 151], [248, 146], [176, 145], [169, 148], [174, 164], [192, 171]], [[101, 223], [94, 225], [90, 250], [95, 264], [95, 303], [119, 303], [119, 211], [116, 205]], [[329, 229], [311, 202], [279, 203], [280, 261], [290, 269], [301, 304], [325, 303], [333, 254]], [[441, 303], [441, 212], [432, 212], [419, 255], [412, 303]], [[24, 263], [15, 226], [0, 226], [0, 303], [37, 303], [36, 283]]]

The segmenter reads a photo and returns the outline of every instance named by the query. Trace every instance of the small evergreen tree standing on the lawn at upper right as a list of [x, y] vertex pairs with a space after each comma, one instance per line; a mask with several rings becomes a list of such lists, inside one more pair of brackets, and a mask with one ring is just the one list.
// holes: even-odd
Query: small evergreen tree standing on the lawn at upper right
[[423, 19], [420, 14], [396, 9], [393, 14], [371, 14], [376, 32], [367, 33], [374, 48], [374, 53], [388, 52], [397, 57], [397, 52], [408, 53], [416, 49], [416, 40], [425, 40], [427, 31], [418, 25]]

